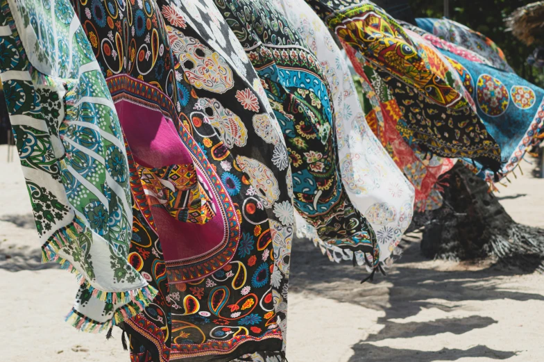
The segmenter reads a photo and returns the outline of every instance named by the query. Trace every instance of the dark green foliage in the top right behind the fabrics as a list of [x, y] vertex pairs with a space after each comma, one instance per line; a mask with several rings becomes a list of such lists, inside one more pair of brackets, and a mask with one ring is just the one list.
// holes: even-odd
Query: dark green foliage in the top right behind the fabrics
[[[527, 81], [544, 88], [541, 69], [527, 65], [534, 47], [527, 47], [506, 32], [504, 17], [520, 6], [536, 0], [450, 0], [450, 18], [491, 38], [504, 51], [508, 63]], [[442, 17], [443, 0], [410, 0], [415, 17]], [[544, 21], [544, 19], [543, 19]]]

